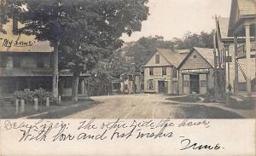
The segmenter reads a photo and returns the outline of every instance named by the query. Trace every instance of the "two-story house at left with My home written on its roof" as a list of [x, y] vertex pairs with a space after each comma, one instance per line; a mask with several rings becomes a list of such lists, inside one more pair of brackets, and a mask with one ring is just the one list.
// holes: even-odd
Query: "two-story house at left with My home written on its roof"
[[[20, 23], [19, 23], [20, 24]], [[9, 96], [15, 90], [52, 90], [52, 51], [48, 41], [38, 42], [34, 36], [19, 34], [18, 22], [3, 26], [0, 34], [0, 96]], [[69, 96], [72, 90], [72, 73], [60, 71], [60, 95]], [[82, 75], [79, 94], [84, 94]]]

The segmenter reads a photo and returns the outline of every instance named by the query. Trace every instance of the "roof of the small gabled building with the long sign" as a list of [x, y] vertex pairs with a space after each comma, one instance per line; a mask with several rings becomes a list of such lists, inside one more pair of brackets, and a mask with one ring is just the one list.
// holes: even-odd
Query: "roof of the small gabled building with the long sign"
[[207, 63], [209, 63], [209, 65], [211, 65], [212, 67], [214, 66], [213, 49], [194, 47], [190, 50], [189, 54], [186, 55], [180, 65], [177, 66], [178, 69], [183, 66], [184, 62], [189, 58], [189, 55], [191, 55], [194, 51], [197, 51], [207, 61]]

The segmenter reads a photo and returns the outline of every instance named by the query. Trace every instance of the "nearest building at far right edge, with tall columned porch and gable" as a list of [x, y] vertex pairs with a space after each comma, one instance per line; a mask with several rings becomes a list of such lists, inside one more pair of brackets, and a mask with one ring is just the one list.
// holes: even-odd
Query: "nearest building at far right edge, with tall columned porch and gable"
[[[255, 0], [232, 0], [228, 37], [234, 38], [235, 61], [246, 61], [245, 78], [247, 95], [252, 95], [252, 58], [256, 58], [256, 1]], [[239, 38], [244, 40], [240, 43]], [[254, 61], [254, 68], [256, 61]], [[235, 94], [238, 93], [238, 64], [235, 64]], [[256, 75], [254, 70], [253, 75]], [[254, 77], [255, 78], [255, 77]], [[255, 84], [254, 84], [255, 85]], [[254, 86], [255, 87], [255, 86]]]

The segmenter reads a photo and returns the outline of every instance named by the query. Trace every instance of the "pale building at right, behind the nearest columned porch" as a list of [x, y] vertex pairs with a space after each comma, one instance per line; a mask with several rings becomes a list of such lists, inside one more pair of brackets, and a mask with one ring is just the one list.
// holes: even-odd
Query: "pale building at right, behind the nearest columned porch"
[[[234, 37], [228, 36], [230, 18], [218, 17], [216, 20], [216, 30], [218, 38], [218, 50], [220, 51], [219, 61], [225, 68], [225, 88], [230, 84], [232, 89], [235, 89], [235, 80], [237, 81], [237, 91], [246, 91], [246, 59], [236, 59]], [[253, 38], [252, 38], [253, 39]], [[253, 40], [252, 40], [253, 41]], [[245, 42], [245, 38], [237, 38], [237, 44], [241, 47]], [[255, 87], [255, 58], [250, 58], [252, 90], [256, 91]], [[235, 77], [236, 71], [236, 77]], [[234, 91], [234, 90], [233, 90]]]

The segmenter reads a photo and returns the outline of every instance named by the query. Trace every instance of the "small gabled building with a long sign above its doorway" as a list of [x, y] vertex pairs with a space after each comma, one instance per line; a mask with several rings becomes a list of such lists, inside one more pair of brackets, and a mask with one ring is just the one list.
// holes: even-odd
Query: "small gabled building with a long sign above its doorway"
[[177, 67], [179, 94], [207, 94], [214, 87], [213, 49], [193, 48]]

